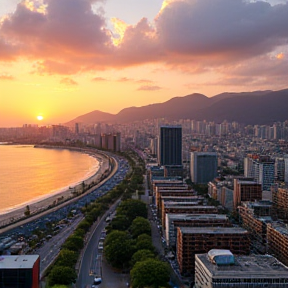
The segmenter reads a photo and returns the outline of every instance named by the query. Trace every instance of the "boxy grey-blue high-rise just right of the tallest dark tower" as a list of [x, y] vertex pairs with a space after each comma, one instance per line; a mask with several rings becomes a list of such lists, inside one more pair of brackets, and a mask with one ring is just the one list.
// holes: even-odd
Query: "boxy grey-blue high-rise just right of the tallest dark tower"
[[217, 176], [217, 153], [191, 152], [190, 173], [194, 183], [212, 181]]

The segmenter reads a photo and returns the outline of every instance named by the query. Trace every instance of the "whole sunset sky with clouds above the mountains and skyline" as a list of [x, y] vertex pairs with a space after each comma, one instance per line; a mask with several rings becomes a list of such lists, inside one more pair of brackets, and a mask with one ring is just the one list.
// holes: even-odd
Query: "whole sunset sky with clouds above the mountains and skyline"
[[0, 127], [280, 90], [287, 76], [284, 0], [0, 2]]

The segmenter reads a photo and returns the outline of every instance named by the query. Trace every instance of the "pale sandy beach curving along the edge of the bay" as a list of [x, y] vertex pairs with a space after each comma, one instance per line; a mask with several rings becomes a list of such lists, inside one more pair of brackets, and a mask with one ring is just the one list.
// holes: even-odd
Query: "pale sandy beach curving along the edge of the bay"
[[[49, 149], [55, 149], [57, 147], [47, 147]], [[62, 149], [69, 149], [69, 147], [63, 147]], [[78, 150], [78, 149], [73, 149], [73, 150]], [[85, 188], [87, 186], [94, 186], [96, 185], [102, 175], [104, 174], [104, 172], [109, 169], [109, 160], [101, 154], [96, 153], [93, 150], [90, 149], [79, 149], [79, 152], [84, 152], [87, 153], [93, 157], [96, 157], [97, 160], [99, 161], [99, 169], [97, 171], [95, 171], [95, 174], [93, 174], [91, 177], [89, 177], [88, 179], [83, 179]], [[47, 198], [41, 199], [41, 200], [32, 200], [31, 203], [28, 203], [29, 208], [30, 208], [30, 213], [31, 215], [35, 215], [38, 214], [41, 211], [45, 211], [48, 209], [48, 207], [54, 207], [55, 204], [61, 204], [64, 203], [65, 201], [67, 201], [68, 199], [72, 199], [75, 198], [77, 196], [77, 194], [81, 194], [81, 192], [83, 191], [83, 184], [81, 182], [81, 184], [78, 184], [76, 186], [71, 186], [69, 187], [68, 190], [59, 192], [57, 194], [47, 194]], [[24, 205], [24, 207], [19, 207], [15, 210], [9, 211], [7, 213], [3, 213], [0, 214], [0, 228], [3, 226], [6, 226], [7, 224], [10, 223], [14, 223], [16, 221], [18, 221], [19, 219], [24, 219], [24, 212], [26, 211], [26, 204]]]

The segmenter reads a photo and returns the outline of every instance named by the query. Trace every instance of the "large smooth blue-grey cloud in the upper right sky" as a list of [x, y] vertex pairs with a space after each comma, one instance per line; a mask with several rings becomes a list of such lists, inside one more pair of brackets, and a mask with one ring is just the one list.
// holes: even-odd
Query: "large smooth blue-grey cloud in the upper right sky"
[[[219, 65], [283, 45], [288, 39], [287, 15], [288, 4], [187, 0], [169, 4], [158, 15], [156, 25], [160, 41], [170, 53], [182, 55], [186, 61], [207, 65], [208, 60]], [[172, 62], [174, 59], [177, 57]]]

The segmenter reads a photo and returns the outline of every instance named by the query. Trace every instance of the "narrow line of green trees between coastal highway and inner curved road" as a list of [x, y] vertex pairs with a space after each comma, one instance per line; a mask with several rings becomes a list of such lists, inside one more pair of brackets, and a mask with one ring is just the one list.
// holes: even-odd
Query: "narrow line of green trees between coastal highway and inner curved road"
[[[83, 239], [85, 238], [85, 234], [89, 231], [93, 223], [104, 215], [112, 203], [121, 196], [122, 199], [131, 198], [133, 191], [135, 192], [135, 185], [139, 187], [141, 181], [143, 183], [142, 175], [145, 169], [143, 160], [133, 151], [120, 153], [120, 155], [128, 160], [130, 166], [129, 173], [127, 173], [120, 184], [108, 193], [96, 199], [93, 203], [86, 204], [82, 207], [85, 219], [79, 223], [74, 233], [67, 238], [54, 265], [48, 271], [48, 285], [50, 287], [62, 284], [69, 285], [76, 282], [77, 274], [75, 272], [75, 265], [80, 256], [80, 251], [84, 246]], [[136, 184], [140, 178], [140, 183]], [[122, 207], [125, 210], [125, 207]], [[147, 211], [145, 213], [144, 216], [147, 217]], [[131, 212], [130, 217], [134, 219], [133, 212]], [[67, 261], [65, 259], [67, 259]]]

